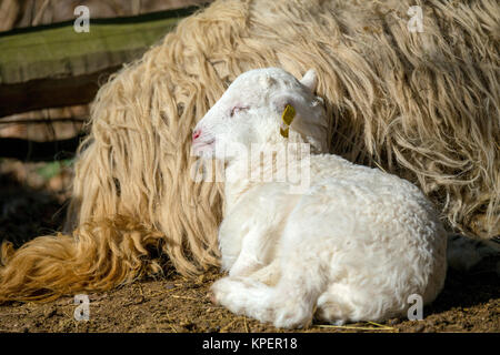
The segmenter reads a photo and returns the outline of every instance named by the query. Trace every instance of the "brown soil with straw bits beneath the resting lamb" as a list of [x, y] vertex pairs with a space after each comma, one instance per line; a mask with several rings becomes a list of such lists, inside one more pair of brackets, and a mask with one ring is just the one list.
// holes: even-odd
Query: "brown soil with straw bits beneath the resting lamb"
[[[207, 294], [218, 277], [217, 272], [197, 278], [172, 274], [89, 294], [89, 321], [76, 320], [73, 297], [12, 303], [0, 306], [0, 332], [286, 332], [211, 304]], [[444, 291], [423, 315], [422, 321], [393, 318], [380, 325], [313, 323], [299, 332], [500, 332], [498, 277], [450, 273]]]

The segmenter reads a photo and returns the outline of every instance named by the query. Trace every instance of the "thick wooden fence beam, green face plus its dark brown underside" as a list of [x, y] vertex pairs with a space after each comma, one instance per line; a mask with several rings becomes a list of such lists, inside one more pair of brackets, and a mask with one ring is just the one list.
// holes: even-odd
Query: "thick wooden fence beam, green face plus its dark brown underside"
[[139, 17], [90, 19], [0, 33], [0, 118], [43, 108], [87, 103], [98, 80], [142, 55], [198, 7]]

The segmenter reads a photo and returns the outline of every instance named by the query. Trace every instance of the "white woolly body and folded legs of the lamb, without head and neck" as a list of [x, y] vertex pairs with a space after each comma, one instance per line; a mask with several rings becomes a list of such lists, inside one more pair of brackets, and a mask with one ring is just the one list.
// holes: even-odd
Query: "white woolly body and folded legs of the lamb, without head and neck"
[[313, 155], [308, 191], [290, 195], [289, 187], [227, 184], [227, 195], [238, 197], [219, 233], [230, 275], [213, 286], [219, 303], [294, 327], [314, 307], [329, 322], [381, 321], [403, 314], [411, 294], [424, 304], [436, 298], [446, 236], [416, 186], [336, 155]]

